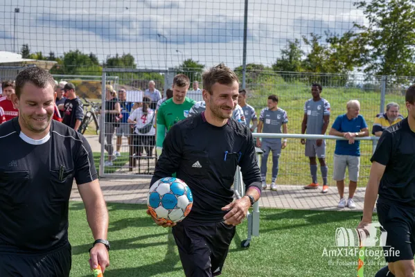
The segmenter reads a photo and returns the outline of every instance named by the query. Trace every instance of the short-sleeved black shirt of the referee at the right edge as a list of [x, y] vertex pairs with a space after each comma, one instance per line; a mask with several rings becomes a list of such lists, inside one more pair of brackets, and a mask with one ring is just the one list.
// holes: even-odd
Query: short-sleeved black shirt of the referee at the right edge
[[415, 133], [408, 118], [385, 129], [371, 161], [384, 166], [380, 180], [380, 202], [415, 207]]

